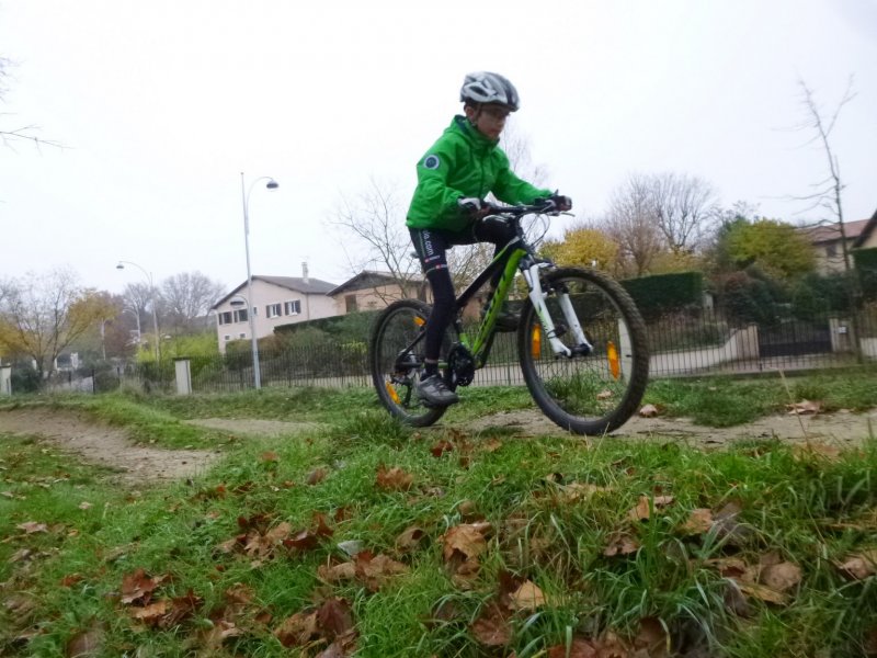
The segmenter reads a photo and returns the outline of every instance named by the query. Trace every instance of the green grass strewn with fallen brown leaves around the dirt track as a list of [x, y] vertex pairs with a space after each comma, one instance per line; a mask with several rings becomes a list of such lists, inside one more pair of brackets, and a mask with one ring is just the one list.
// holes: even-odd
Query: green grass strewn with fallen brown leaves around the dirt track
[[[766, 397], [767, 383], [713, 385], [711, 397]], [[844, 407], [866, 399], [862, 382], [789, 385]], [[514, 389], [494, 394], [467, 390], [456, 412], [527, 405]], [[649, 392], [681, 413], [695, 394], [693, 382]], [[617, 642], [624, 656], [646, 650], [650, 625], [667, 629], [658, 644], [674, 655], [864, 656], [877, 633], [877, 577], [839, 568], [877, 549], [874, 438], [834, 455], [778, 441], [704, 453], [660, 441], [412, 431], [364, 393], [316, 389], [57, 406], [169, 435], [197, 416], [326, 424], [297, 440], [232, 443], [197, 479], [140, 494], [36, 438], [0, 435], [0, 656], [83, 646], [86, 656], [316, 656], [335, 637], [324, 626], [310, 648], [288, 636], [284, 647], [274, 632], [317, 606], [344, 626], [332, 605], [349, 606], [363, 657], [535, 658], [563, 655], [558, 647], [573, 640], [606, 655]], [[392, 468], [405, 477], [381, 480]], [[643, 500], [649, 519], [631, 517]], [[696, 509], [710, 510], [711, 524], [685, 530]], [[448, 555], [455, 529], [480, 522], [490, 526], [475, 561], [462, 564], [469, 544]], [[400, 543], [412, 527], [419, 541]], [[351, 559], [345, 542], [403, 569], [385, 572], [361, 556], [357, 577], [321, 577], [320, 567]], [[776, 564], [800, 579], [767, 588]], [[123, 583], [138, 569], [155, 590], [125, 602], [134, 594]], [[546, 603], [514, 610], [526, 581]]]

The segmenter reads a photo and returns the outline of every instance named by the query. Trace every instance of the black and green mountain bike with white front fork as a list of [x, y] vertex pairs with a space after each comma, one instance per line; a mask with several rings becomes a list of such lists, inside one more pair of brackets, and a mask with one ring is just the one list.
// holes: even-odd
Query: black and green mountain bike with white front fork
[[[630, 296], [608, 276], [561, 268], [539, 258], [522, 227], [524, 217], [547, 220], [554, 206], [491, 206], [513, 223], [516, 237], [457, 297], [455, 319], [442, 344], [440, 372], [455, 390], [488, 366], [497, 320], [520, 272], [527, 296], [517, 327], [517, 359], [524, 382], [542, 411], [577, 434], [603, 434], [637, 410], [649, 373], [646, 327]], [[500, 272], [478, 326], [464, 330], [463, 313]], [[372, 378], [380, 402], [402, 422], [426, 427], [444, 415], [420, 399], [423, 347], [430, 306], [402, 299], [376, 319], [369, 344]]]

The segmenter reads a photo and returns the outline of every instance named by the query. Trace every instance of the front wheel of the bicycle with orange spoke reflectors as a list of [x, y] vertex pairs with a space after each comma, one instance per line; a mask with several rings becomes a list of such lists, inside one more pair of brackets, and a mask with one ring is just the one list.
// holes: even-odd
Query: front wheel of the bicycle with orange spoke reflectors
[[[572, 355], [555, 352], [527, 300], [517, 344], [533, 399], [570, 432], [597, 435], [617, 429], [637, 410], [649, 378], [646, 326], [636, 305], [620, 285], [592, 270], [553, 270], [542, 286], [555, 336]], [[574, 319], [590, 350], [579, 344]]]

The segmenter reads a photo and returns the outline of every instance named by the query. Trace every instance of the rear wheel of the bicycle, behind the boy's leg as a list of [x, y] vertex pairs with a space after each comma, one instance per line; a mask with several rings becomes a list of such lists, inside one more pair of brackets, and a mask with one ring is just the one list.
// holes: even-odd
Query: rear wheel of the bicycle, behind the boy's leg
[[433, 424], [447, 409], [429, 407], [417, 394], [423, 368], [423, 327], [430, 310], [428, 304], [415, 299], [391, 304], [375, 321], [369, 347], [372, 379], [380, 404], [413, 427]]

